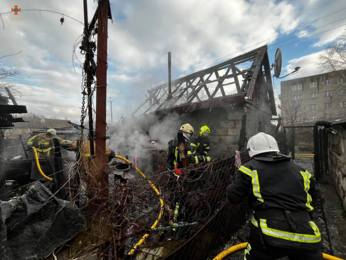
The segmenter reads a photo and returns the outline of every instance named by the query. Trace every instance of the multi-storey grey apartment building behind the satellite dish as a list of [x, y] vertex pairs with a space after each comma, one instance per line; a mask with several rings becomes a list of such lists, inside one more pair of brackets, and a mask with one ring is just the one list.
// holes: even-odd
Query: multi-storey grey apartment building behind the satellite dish
[[346, 116], [346, 69], [281, 82], [285, 123]]

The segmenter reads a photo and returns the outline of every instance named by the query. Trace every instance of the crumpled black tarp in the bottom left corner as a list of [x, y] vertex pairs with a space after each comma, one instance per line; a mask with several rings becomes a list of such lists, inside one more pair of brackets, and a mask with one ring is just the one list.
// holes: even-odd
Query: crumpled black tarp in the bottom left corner
[[36, 181], [9, 202], [0, 201], [0, 259], [38, 260], [86, 230], [83, 213]]

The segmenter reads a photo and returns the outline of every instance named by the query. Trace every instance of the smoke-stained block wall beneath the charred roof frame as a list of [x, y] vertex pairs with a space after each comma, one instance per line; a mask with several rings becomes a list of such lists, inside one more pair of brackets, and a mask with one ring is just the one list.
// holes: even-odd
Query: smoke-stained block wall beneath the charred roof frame
[[[245, 112], [243, 104], [199, 109], [180, 115], [143, 116], [138, 117], [136, 122], [143, 129], [143, 132], [147, 132], [150, 135], [150, 126], [154, 125], [155, 121], [161, 121], [162, 124], [165, 124], [169, 117], [173, 117], [175, 120], [174, 122], [169, 122], [171, 129], [170, 135], [165, 136], [167, 140], [160, 140], [160, 142], [165, 144], [165, 148], [162, 149], [166, 149], [167, 142], [175, 137], [181, 125], [185, 123], [191, 124], [195, 130], [195, 135], [199, 134], [199, 129], [202, 126], [208, 125], [211, 128], [211, 135], [209, 136], [211, 151], [209, 155], [212, 157], [234, 153], [239, 149], [242, 126], [246, 129], [246, 132], [243, 133], [243, 136], [246, 138], [243, 145], [258, 132], [268, 134], [271, 132], [270, 118], [251, 108], [248, 108], [247, 112]], [[163, 125], [161, 127], [164, 128]], [[155, 139], [153, 136], [152, 138]]]

